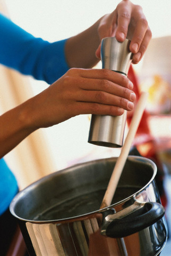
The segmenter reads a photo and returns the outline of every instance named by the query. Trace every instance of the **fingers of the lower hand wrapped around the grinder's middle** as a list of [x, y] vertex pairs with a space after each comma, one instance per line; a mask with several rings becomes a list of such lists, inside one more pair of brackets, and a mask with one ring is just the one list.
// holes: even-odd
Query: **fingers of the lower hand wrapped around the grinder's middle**
[[76, 75], [74, 76], [74, 84], [78, 86], [78, 90], [72, 94], [76, 101], [133, 109], [136, 96], [132, 91], [133, 84], [126, 76], [107, 69], [79, 69], [78, 74], [81, 76], [78, 83]]

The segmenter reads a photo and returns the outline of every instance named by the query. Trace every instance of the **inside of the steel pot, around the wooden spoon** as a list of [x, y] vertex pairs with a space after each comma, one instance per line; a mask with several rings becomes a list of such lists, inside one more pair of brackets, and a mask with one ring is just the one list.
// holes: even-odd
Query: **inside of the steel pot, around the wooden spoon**
[[[16, 218], [52, 221], [98, 211], [117, 158], [100, 159], [55, 172], [21, 191], [11, 204]], [[143, 190], [156, 165], [143, 157], [127, 159], [112, 204]]]

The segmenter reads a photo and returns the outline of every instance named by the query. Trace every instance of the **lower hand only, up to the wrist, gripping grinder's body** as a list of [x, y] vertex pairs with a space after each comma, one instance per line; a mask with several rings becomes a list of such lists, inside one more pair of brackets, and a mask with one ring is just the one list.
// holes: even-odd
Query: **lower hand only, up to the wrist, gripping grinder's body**
[[70, 69], [32, 98], [32, 125], [48, 127], [80, 114], [122, 115], [134, 107], [132, 89], [126, 76], [111, 70]]

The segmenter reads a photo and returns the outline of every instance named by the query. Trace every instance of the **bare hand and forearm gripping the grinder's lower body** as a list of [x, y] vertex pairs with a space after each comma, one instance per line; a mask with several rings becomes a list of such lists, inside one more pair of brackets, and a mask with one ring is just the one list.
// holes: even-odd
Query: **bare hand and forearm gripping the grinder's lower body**
[[135, 93], [126, 76], [107, 69], [70, 69], [46, 90], [0, 116], [0, 157], [40, 127], [80, 114], [122, 115]]

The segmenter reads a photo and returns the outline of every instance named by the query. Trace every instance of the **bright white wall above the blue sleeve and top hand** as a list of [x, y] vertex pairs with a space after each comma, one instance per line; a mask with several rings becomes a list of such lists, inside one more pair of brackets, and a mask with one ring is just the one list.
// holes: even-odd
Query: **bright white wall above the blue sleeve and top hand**
[[[72, 36], [102, 15], [118, 0], [5, 0], [12, 19], [35, 36], [56, 40]], [[170, 0], [132, 0], [143, 7], [153, 37], [171, 33]]]

